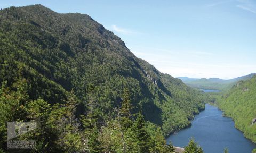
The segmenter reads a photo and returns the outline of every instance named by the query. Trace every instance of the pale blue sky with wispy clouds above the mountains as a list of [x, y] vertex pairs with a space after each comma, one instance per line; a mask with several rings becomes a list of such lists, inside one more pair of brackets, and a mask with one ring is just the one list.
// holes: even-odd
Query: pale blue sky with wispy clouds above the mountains
[[137, 57], [173, 77], [235, 78], [256, 72], [256, 1], [0, 1], [89, 14]]

